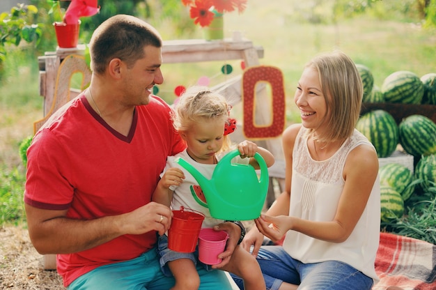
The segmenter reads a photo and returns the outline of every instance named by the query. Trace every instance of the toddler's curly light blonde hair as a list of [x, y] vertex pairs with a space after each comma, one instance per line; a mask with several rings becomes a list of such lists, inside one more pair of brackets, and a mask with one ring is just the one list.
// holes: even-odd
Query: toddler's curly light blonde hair
[[[219, 93], [210, 91], [207, 86], [191, 86], [179, 97], [171, 118], [178, 132], [188, 131], [192, 123], [200, 123], [205, 119], [228, 121], [231, 106]], [[223, 128], [224, 133], [224, 128]], [[221, 151], [231, 148], [231, 140], [224, 135]]]

